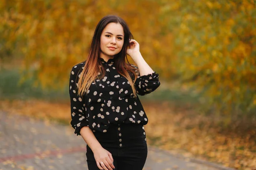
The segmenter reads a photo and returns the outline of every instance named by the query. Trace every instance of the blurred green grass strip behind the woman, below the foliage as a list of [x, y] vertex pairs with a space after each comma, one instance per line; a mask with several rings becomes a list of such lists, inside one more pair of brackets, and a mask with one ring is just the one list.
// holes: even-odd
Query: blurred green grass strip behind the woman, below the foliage
[[[69, 100], [68, 82], [63, 90], [43, 89], [40, 86], [35, 87], [35, 77], [26, 79], [22, 84], [22, 77], [17, 69], [0, 70], [0, 99], [45, 99], [45, 100]], [[199, 102], [200, 94], [193, 91], [180, 91], [179, 88], [169, 90], [160, 85], [156, 91], [145, 96], [139, 96], [142, 101], [171, 101], [177, 105], [183, 106], [184, 103], [192, 105]]]

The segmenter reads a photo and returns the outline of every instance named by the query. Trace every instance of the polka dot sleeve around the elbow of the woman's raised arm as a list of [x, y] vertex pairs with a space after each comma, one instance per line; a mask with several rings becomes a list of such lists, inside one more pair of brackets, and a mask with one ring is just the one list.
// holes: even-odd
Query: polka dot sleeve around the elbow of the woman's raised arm
[[[137, 68], [136, 66], [134, 67]], [[141, 96], [155, 91], [159, 86], [159, 75], [156, 72], [143, 76], [140, 76], [139, 74], [135, 81], [137, 94]]]

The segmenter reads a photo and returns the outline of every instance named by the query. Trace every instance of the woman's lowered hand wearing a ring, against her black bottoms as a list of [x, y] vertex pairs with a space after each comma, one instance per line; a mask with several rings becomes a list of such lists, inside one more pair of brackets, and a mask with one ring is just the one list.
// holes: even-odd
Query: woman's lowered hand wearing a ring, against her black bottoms
[[100, 170], [114, 170], [113, 157], [108, 150], [105, 150], [103, 147], [97, 149], [93, 152], [96, 164]]

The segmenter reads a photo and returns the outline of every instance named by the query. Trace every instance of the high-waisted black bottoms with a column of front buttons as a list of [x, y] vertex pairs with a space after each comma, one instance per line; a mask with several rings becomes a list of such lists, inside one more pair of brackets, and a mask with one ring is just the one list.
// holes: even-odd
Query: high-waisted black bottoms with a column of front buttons
[[[102, 147], [112, 154], [116, 170], [143, 169], [148, 153], [143, 125], [111, 124], [107, 132], [96, 131], [94, 135]], [[99, 170], [88, 145], [86, 156], [89, 170]]]

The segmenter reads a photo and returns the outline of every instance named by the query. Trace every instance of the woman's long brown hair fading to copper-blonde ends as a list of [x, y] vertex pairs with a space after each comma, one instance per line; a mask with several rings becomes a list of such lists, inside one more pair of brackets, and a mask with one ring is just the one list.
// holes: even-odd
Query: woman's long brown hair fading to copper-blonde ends
[[[102, 62], [100, 61], [100, 51], [101, 51], [100, 38], [101, 38], [103, 29], [109, 23], [120, 23], [124, 29], [124, 33], [125, 33], [124, 44], [122, 46], [122, 50], [114, 56], [114, 63], [118, 73], [121, 74], [126, 79], [128, 79], [128, 81], [130, 82], [133, 94], [135, 97], [137, 97], [134, 82], [137, 79], [139, 70], [134, 68], [129, 63], [126, 55], [126, 50], [130, 44], [129, 39], [133, 39], [133, 36], [130, 32], [128, 25], [125, 23], [125, 21], [122, 18], [115, 15], [107, 15], [103, 17], [99, 21], [98, 25], [96, 26], [96, 29], [93, 35], [93, 40], [90, 45], [87, 61], [85, 62], [84, 69], [81, 71], [80, 79], [78, 81], [78, 94], [79, 96], [87, 94], [87, 90], [89, 89], [91, 83], [95, 82], [96, 77], [98, 79], [102, 79], [103, 77], [105, 77], [105, 70], [103, 69]], [[125, 62], [125, 58], [128, 63]], [[129, 74], [129, 72], [131, 75]], [[134, 82], [132, 81], [131, 76], [134, 76]]]

